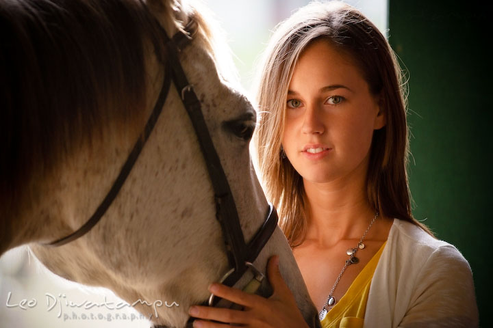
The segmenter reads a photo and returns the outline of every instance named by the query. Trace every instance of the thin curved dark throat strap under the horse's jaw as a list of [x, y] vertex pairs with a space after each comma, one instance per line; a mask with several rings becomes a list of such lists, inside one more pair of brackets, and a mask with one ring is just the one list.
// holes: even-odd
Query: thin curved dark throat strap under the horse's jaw
[[94, 227], [96, 223], [99, 222], [101, 217], [103, 217], [103, 215], [106, 213], [106, 210], [108, 210], [108, 208], [116, 198], [116, 195], [118, 195], [118, 192], [120, 191], [121, 187], [125, 183], [125, 180], [127, 180], [127, 176], [130, 174], [131, 169], [134, 167], [134, 164], [136, 163], [138, 156], [142, 151], [142, 148], [144, 148], [144, 145], [147, 139], [149, 139], [149, 135], [151, 135], [151, 132], [153, 131], [153, 128], [157, 122], [157, 119], [159, 118], [160, 113], [162, 112], [162, 108], [164, 107], [164, 102], [166, 102], [166, 98], [168, 96], [168, 92], [170, 90], [170, 85], [171, 85], [171, 77], [170, 77], [171, 74], [170, 74], [169, 65], [166, 65], [165, 67], [166, 70], [164, 71], [164, 81], [161, 87], [161, 92], [159, 94], [159, 97], [157, 98], [151, 116], [149, 117], [149, 120], [147, 120], [147, 123], [144, 127], [144, 131], [137, 139], [134, 148], [132, 148], [129, 156], [127, 157], [127, 161], [125, 161], [125, 164], [123, 164], [123, 167], [120, 170], [120, 174], [118, 174], [118, 177], [116, 178], [110, 191], [108, 191], [108, 194], [106, 194], [106, 197], [103, 199], [103, 202], [101, 202], [101, 204], [98, 206], [97, 210], [90, 217], [90, 219], [88, 219], [88, 221], [84, 223], [84, 226], [81, 226], [81, 228], [75, 230], [75, 232], [69, 234], [68, 236], [64, 236], [58, 239], [57, 241], [53, 241], [51, 243], [46, 243], [45, 245], [56, 247], [56, 246], [65, 245], [66, 243], [70, 243], [71, 241], [75, 241], [75, 239], [84, 236], [84, 234], [86, 234], [89, 230], [91, 230], [92, 227]]

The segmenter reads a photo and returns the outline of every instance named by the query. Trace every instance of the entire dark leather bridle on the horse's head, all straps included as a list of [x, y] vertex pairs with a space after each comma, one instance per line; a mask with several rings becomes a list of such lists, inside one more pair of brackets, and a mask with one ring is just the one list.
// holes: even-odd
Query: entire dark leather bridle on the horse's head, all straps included
[[[101, 217], [103, 217], [106, 210], [108, 210], [114, 201], [116, 195], [118, 195], [118, 191], [120, 191], [123, 186], [127, 176], [131, 172], [132, 167], [134, 167], [134, 164], [136, 163], [145, 142], [149, 138], [149, 135], [151, 135], [155, 123], [157, 122], [157, 119], [162, 111], [162, 107], [164, 106], [164, 102], [166, 102], [171, 81], [173, 80], [176, 89], [180, 91], [181, 101], [190, 116], [195, 133], [199, 139], [201, 152], [205, 159], [207, 171], [209, 172], [212, 187], [214, 189], [216, 218], [218, 219], [223, 231], [226, 254], [229, 267], [231, 267], [222, 279], [220, 279], [220, 282], [227, 286], [233, 286], [244, 275], [244, 273], [251, 269], [253, 271], [254, 279], [252, 279], [247, 285], [246, 290], [249, 292], [255, 292], [255, 290], [260, 287], [260, 284], [264, 279], [264, 275], [257, 270], [255, 266], [253, 266], [253, 262], [260, 254], [260, 251], [262, 251], [262, 248], [267, 243], [277, 226], [276, 210], [273, 205], [269, 203], [266, 220], [262, 224], [260, 230], [257, 231], [255, 236], [253, 236], [251, 241], [247, 244], [241, 230], [238, 211], [236, 210], [236, 204], [233, 200], [229, 183], [223, 167], [220, 164], [219, 156], [214, 148], [209, 130], [207, 129], [207, 125], [205, 124], [205, 120], [203, 118], [201, 102], [194, 92], [193, 85], [188, 83], [186, 74], [179, 61], [179, 52], [181, 49], [184, 49], [188, 43], [190, 43], [190, 40], [192, 40], [194, 34], [197, 33], [197, 22], [190, 18], [184, 29], [185, 33], [178, 31], [173, 38], [168, 37], [166, 31], [164, 31], [159, 23], [157, 23], [157, 27], [162, 32], [162, 38], [164, 39], [164, 52], [167, 55], [167, 58], [164, 59], [166, 72], [164, 73], [164, 81], [160, 95], [157, 98], [155, 107], [153, 108], [149, 120], [144, 127], [142, 135], [140, 135], [136, 141], [134, 148], [127, 157], [127, 161], [125, 161], [123, 167], [121, 168], [121, 172], [118, 174], [112, 188], [105, 196], [103, 202], [101, 202], [92, 217], [90, 217], [90, 219], [86, 221], [81, 228], [72, 234], [45, 245], [56, 247], [65, 245], [71, 241], [75, 241], [75, 239], [84, 236], [84, 234], [89, 232], [92, 227], [99, 222]], [[161, 49], [161, 47], [157, 46], [156, 49]], [[216, 303], [218, 303], [218, 299], [214, 299], [214, 295], [211, 295], [207, 303], [208, 305], [216, 305]]]

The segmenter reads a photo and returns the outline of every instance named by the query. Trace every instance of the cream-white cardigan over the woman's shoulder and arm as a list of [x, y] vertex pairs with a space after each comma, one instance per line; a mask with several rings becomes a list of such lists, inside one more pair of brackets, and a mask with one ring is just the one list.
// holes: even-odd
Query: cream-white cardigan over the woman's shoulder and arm
[[451, 244], [394, 219], [372, 278], [366, 328], [478, 327], [467, 260]]

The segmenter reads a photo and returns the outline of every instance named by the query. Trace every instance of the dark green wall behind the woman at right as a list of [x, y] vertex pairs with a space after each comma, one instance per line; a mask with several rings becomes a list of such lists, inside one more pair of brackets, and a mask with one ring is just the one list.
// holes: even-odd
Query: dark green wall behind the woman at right
[[469, 261], [481, 327], [493, 327], [487, 12], [472, 1], [390, 0], [389, 14], [389, 40], [409, 77], [414, 216]]

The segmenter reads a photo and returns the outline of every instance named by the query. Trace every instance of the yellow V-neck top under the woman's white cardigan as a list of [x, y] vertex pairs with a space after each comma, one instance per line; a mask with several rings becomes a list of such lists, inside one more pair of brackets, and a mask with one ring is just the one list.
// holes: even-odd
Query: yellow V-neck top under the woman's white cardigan
[[[387, 242], [385, 242], [387, 243]], [[370, 291], [371, 280], [377, 268], [383, 247], [373, 256], [349, 286], [346, 294], [331, 308], [320, 322], [323, 328], [361, 328], [363, 327], [366, 301]]]

